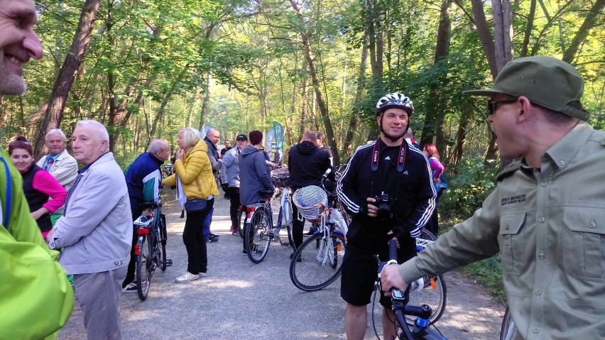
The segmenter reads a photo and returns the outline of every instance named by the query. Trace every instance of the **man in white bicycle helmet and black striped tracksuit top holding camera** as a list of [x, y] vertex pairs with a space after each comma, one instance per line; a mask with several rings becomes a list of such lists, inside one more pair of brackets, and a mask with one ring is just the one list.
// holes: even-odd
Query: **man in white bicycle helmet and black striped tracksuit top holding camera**
[[[342, 263], [341, 297], [347, 302], [347, 339], [364, 339], [366, 305], [378, 272], [375, 256], [388, 260], [388, 240], [399, 243], [398, 260], [416, 255], [415, 237], [435, 209], [435, 190], [425, 155], [403, 138], [414, 112], [404, 94], [386, 94], [376, 104], [380, 138], [357, 148], [339, 178], [340, 202], [351, 213]], [[378, 200], [378, 202], [377, 202]], [[381, 295], [383, 339], [395, 336], [391, 300]]]

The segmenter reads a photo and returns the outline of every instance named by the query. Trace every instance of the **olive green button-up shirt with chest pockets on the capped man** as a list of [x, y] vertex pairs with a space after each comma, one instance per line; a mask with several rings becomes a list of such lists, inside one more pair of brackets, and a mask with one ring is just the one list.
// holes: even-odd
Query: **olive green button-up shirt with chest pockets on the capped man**
[[501, 254], [517, 339], [605, 339], [605, 132], [578, 124], [498, 175], [470, 219], [403, 263], [406, 282]]

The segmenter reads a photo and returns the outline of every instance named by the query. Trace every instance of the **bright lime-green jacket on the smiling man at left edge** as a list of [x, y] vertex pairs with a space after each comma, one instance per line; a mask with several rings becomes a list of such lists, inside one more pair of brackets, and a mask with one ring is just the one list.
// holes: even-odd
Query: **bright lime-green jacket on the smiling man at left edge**
[[56, 339], [72, 313], [74, 292], [59, 252], [46, 246], [31, 217], [21, 174], [4, 150], [0, 157], [0, 339]]

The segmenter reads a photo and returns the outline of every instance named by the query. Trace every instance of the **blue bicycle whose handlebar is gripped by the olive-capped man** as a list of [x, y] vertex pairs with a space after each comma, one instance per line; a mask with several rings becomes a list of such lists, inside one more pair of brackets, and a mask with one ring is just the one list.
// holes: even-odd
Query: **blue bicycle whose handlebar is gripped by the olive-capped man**
[[[384, 265], [398, 264], [397, 243], [395, 240], [388, 241], [388, 257], [389, 261]], [[382, 267], [378, 269], [378, 283], [380, 282], [381, 270]], [[414, 288], [412, 285], [408, 286], [405, 292], [395, 288], [391, 289], [391, 302], [393, 305], [392, 309], [393, 313], [395, 314], [396, 323], [401, 329], [400, 333], [398, 334], [399, 339], [447, 340], [438, 331], [429, 328], [435, 323], [430, 321], [430, 318], [434, 315], [434, 313], [429, 305], [409, 305], [410, 291], [413, 289]], [[410, 324], [409, 319], [413, 316], [416, 317], [416, 319], [412, 324]], [[412, 327], [411, 331], [410, 327]]]

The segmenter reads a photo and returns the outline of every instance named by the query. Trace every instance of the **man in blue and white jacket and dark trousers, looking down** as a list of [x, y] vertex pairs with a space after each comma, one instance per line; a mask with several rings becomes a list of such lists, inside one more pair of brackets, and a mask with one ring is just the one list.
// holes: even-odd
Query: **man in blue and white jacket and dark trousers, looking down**
[[[139, 204], [143, 202], [160, 202], [160, 183], [162, 182], [162, 171], [160, 167], [170, 158], [170, 146], [161, 139], [154, 139], [149, 143], [146, 153], [141, 153], [131, 165], [126, 168], [126, 186], [130, 197], [130, 210], [132, 220], [141, 216], [143, 209]], [[134, 283], [134, 270], [136, 261], [134, 255], [134, 245], [138, 236], [133, 230], [132, 248], [130, 251], [130, 263], [128, 273], [124, 283], [122, 283], [122, 292], [136, 292], [136, 283]]]

